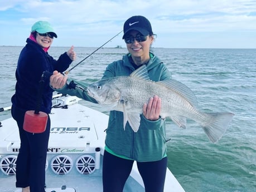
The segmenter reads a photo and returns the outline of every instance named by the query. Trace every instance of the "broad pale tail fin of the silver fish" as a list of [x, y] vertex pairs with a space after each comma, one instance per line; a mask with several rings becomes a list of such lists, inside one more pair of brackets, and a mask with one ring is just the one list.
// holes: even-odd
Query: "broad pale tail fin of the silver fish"
[[215, 112], [207, 113], [207, 115], [210, 115], [210, 120], [202, 125], [202, 129], [204, 129], [210, 141], [216, 143], [226, 132], [234, 114], [229, 112]]

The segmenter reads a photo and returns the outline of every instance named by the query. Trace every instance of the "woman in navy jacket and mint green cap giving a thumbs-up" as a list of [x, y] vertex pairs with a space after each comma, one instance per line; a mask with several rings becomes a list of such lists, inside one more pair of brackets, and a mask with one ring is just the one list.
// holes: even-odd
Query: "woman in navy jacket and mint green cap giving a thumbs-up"
[[[49, 80], [45, 80], [43, 86], [40, 85], [42, 73], [54, 70], [64, 72], [76, 58], [73, 46], [58, 60], [51, 57], [47, 50], [54, 37], [57, 38], [57, 35], [49, 22], [36, 22], [18, 58], [17, 82], [15, 94], [12, 96], [12, 116], [17, 121], [20, 132], [21, 146], [16, 161], [16, 187], [22, 188], [22, 192], [45, 192], [45, 164], [50, 135], [49, 115], [46, 130], [33, 134], [23, 130], [25, 113], [28, 110], [36, 110], [37, 107], [46, 114], [51, 112], [53, 90], [49, 86]], [[38, 96], [41, 100], [39, 104]]]

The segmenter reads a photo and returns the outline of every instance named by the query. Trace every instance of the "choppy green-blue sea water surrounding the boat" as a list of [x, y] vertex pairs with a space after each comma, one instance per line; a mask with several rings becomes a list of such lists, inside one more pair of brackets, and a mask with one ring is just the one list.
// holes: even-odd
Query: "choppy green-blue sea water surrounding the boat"
[[[11, 106], [15, 92], [15, 69], [22, 47], [0, 47], [0, 107]], [[59, 57], [69, 47], [51, 47]], [[75, 47], [74, 66], [93, 47]], [[256, 50], [255, 49], [175, 49], [153, 48], [172, 72], [172, 78], [191, 88], [198, 108], [205, 112], [233, 112], [228, 130], [212, 144], [201, 127], [187, 122], [187, 129], [167, 121], [168, 168], [187, 192], [256, 191]], [[78, 67], [70, 77], [93, 82], [102, 77], [108, 63], [119, 60], [126, 48], [101, 48]], [[86, 105], [103, 111], [95, 104]], [[11, 116], [0, 112], [0, 120]], [[152, 168], [154, 174], [154, 168]]]

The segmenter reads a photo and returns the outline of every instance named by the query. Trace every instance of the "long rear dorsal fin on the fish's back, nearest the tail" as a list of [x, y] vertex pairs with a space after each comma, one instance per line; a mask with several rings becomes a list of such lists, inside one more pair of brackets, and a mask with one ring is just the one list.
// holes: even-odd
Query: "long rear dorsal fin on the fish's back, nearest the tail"
[[156, 83], [161, 83], [166, 87], [170, 88], [172, 91], [178, 93], [184, 97], [192, 106], [197, 106], [197, 99], [194, 93], [190, 90], [189, 87], [181, 83], [180, 81], [168, 79], [163, 81], [158, 81]]

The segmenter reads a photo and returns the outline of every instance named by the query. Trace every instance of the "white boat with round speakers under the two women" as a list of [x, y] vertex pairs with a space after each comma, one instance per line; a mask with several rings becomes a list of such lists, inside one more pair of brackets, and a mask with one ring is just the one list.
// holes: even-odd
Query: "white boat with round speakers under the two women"
[[[103, 191], [102, 160], [108, 115], [78, 104], [77, 97], [56, 97], [46, 162], [46, 191]], [[15, 168], [20, 139], [16, 121], [2, 121], [0, 127], [0, 191], [21, 191], [15, 188]], [[153, 173], [152, 173], [153, 174]], [[87, 190], [88, 189], [88, 190]], [[143, 181], [134, 163], [124, 191], [144, 191]], [[165, 192], [184, 192], [168, 169]]]

